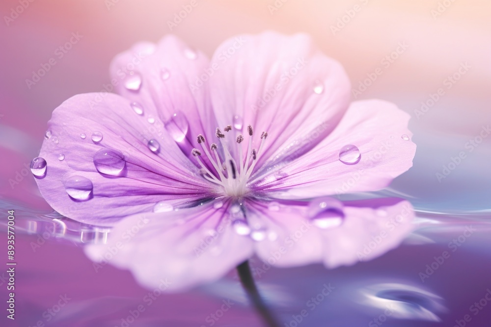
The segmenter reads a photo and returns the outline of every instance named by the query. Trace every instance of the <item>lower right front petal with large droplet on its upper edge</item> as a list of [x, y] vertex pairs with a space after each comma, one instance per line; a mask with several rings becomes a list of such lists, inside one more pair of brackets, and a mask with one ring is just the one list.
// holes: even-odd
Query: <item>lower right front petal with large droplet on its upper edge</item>
[[[268, 236], [255, 243], [257, 255], [280, 267], [324, 262], [328, 268], [374, 259], [397, 247], [412, 229], [412, 206], [401, 199], [344, 202], [341, 225], [321, 228], [309, 218], [309, 203], [251, 202], [253, 221], [263, 216]], [[274, 237], [271, 237], [274, 235]]]

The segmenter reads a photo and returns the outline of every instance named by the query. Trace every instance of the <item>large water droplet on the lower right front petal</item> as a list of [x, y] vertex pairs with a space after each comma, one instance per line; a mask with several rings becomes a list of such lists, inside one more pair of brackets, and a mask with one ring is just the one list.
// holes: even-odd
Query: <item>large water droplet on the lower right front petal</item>
[[310, 201], [308, 217], [319, 228], [332, 228], [343, 224], [343, 203], [333, 198], [323, 197]]

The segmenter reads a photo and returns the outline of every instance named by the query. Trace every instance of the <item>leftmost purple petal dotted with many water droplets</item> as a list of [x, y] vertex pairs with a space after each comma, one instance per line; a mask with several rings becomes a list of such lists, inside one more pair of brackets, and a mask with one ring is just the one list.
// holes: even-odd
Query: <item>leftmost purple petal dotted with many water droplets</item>
[[[211, 183], [167, 132], [147, 128], [130, 101], [115, 94], [83, 94], [63, 102], [53, 112], [51, 137], [41, 148], [47, 162], [46, 176], [36, 178], [41, 194], [62, 215], [102, 225], [151, 211], [159, 201], [176, 206], [208, 195]], [[158, 151], [149, 149], [150, 139], [158, 140]], [[90, 182], [82, 178], [88, 185], [69, 185], [74, 176]], [[68, 186], [75, 187], [69, 187], [72, 197]], [[84, 198], [76, 193], [78, 187]]]

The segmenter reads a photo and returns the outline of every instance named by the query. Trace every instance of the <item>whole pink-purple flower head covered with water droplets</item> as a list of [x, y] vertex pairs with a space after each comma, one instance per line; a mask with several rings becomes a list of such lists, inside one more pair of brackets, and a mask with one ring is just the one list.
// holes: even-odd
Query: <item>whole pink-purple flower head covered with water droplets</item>
[[[412, 165], [409, 115], [350, 102], [339, 63], [306, 35], [224, 42], [211, 61], [174, 36], [116, 56], [102, 92], [53, 112], [33, 164], [59, 213], [113, 226], [86, 247], [156, 287], [222, 277], [257, 255], [328, 268], [396, 247], [407, 201], [340, 201], [375, 191]], [[115, 249], [115, 250], [114, 250]]]

